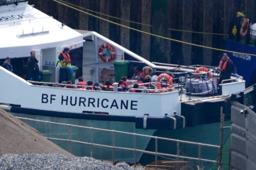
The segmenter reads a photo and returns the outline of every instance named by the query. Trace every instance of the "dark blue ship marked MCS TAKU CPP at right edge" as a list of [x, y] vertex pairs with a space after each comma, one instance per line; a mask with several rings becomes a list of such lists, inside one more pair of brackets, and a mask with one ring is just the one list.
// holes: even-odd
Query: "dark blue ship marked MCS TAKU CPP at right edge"
[[256, 14], [237, 12], [231, 14], [230, 19], [230, 36], [225, 40], [225, 49], [246, 53], [227, 52], [238, 74], [246, 80], [246, 86], [250, 86], [256, 83]]

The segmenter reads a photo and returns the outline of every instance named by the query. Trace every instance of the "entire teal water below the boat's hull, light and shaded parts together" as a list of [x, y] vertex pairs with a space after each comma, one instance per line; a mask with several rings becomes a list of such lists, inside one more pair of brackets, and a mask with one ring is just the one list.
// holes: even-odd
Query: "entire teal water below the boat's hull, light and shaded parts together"
[[[66, 118], [57, 118], [57, 117], [45, 117], [38, 115], [27, 115], [20, 113], [12, 113], [14, 116], [18, 117], [26, 117], [31, 119], [38, 119], [43, 121], [52, 121], [58, 123], [66, 123], [72, 125], [80, 125], [86, 127], [94, 127], [94, 128], [104, 128], [110, 130], [119, 130], [124, 132], [138, 133], [138, 134], [146, 134], [146, 135], [154, 135], [166, 138], [174, 138], [178, 140], [187, 140], [192, 142], [201, 142], [206, 144], [214, 144], [220, 145], [220, 123], [212, 123], [207, 125], [200, 125], [195, 127], [186, 127], [182, 129], [175, 130], [153, 130], [153, 129], [136, 129], [134, 122], [117, 122], [117, 121], [95, 121], [95, 120], [86, 120], [86, 119], [66, 119]], [[36, 128], [40, 131], [44, 136], [48, 135], [46, 123], [38, 123], [28, 121], [28, 125]], [[230, 121], [226, 121], [224, 126], [229, 126]], [[62, 125], [48, 125], [49, 137], [52, 138], [65, 138], [68, 139], [68, 127], [64, 127]], [[93, 135], [91, 134], [90, 129], [71, 127], [71, 139], [78, 140], [82, 142], [92, 142], [96, 144], [106, 144], [110, 146], [120, 146], [127, 148], [134, 148], [134, 136], [128, 134], [117, 134], [115, 133], [113, 136], [113, 132], [102, 132], [99, 130], [93, 130]], [[229, 132], [224, 132], [224, 141], [227, 140], [229, 136]], [[114, 141], [114, 142], [113, 142]], [[141, 150], [148, 150], [155, 152], [155, 140], [147, 137], [136, 137], [136, 148]], [[72, 154], [76, 156], [91, 156], [96, 159], [102, 160], [119, 160], [119, 161], [127, 161], [134, 162], [134, 152], [133, 151], [124, 151], [115, 149], [114, 152], [112, 148], [104, 148], [101, 146], [93, 146], [85, 145], [85, 144], [77, 144], [74, 142], [66, 142], [66, 141], [53, 141], [58, 146], [64, 148], [67, 151], [70, 151]], [[177, 143], [170, 142], [166, 140], [158, 139], [158, 152], [167, 153], [167, 154], [177, 154]], [[179, 144], [179, 155], [182, 156], [190, 156], [198, 158], [198, 145], [192, 144]], [[201, 158], [217, 160], [218, 158], [218, 148], [210, 148], [206, 146], [201, 147]], [[176, 159], [166, 158], [162, 156], [158, 156], [158, 160], [173, 160]], [[142, 154], [140, 152], [136, 152], [136, 162], [140, 162], [143, 165], [149, 164], [155, 160], [154, 155]], [[184, 160], [184, 159], [179, 159]], [[192, 165], [196, 166], [198, 164], [205, 169], [211, 169], [214, 165], [213, 163], [203, 162], [203, 161], [195, 161], [195, 160], [186, 160]]]

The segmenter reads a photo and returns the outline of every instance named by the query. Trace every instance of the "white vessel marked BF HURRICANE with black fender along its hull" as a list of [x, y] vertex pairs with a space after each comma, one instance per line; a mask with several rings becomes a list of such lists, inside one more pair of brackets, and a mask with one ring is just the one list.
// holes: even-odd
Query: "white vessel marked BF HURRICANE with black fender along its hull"
[[[196, 69], [207, 67], [208, 73], [212, 73], [212, 78], [207, 81], [213, 83], [218, 78], [218, 74], [212, 72], [214, 67], [150, 62], [96, 32], [73, 30], [65, 26], [34, 6], [28, 5], [26, 0], [18, 0], [16, 4], [12, 1], [6, 3], [9, 4], [0, 6], [2, 38], [0, 59], [10, 57], [14, 73], [0, 67], [0, 103], [2, 103], [0, 107], [2, 109], [19, 117], [147, 135], [163, 134], [165, 137], [181, 140], [186, 138], [195, 142], [208, 139], [212, 142], [211, 144], [218, 144], [218, 130], [209, 137], [208, 132], [199, 132], [198, 127], [204, 128], [206, 125], [209, 128], [213, 127], [212, 124], [219, 122], [220, 107], [226, 106], [226, 99], [231, 94], [245, 89], [245, 81], [242, 77], [232, 76], [229, 83], [221, 84], [222, 95], [213, 93], [216, 87], [208, 89], [206, 91], [208, 95], [202, 96], [201, 93], [193, 95], [186, 91], [188, 90], [186, 82], [196, 79], [198, 76], [195, 74]], [[113, 62], [102, 61], [98, 51], [105, 43], [114, 49], [114, 61], [130, 62], [129, 70], [139, 64], [152, 67], [154, 74], [158, 76], [162, 73], [167, 74], [167, 70], [172, 72], [175, 75], [172, 87], [166, 89], [164, 93], [157, 88], [150, 89], [155, 93], [147, 93], [149, 89], [146, 87], [142, 87], [143, 93], [54, 87], [58, 82], [59, 72], [56, 63], [64, 47], [71, 49], [72, 64], [78, 66], [77, 76], [80, 75], [85, 81], [93, 82], [99, 82], [102, 79], [114, 80], [116, 70]], [[50, 82], [26, 81], [22, 62], [26, 61], [32, 50], [36, 51], [40, 69], [53, 72]], [[151, 83], [154, 85], [156, 82]], [[160, 79], [158, 83], [162, 83], [162, 80]], [[106, 114], [96, 114], [103, 112]], [[214, 126], [218, 125], [214, 124]], [[43, 127], [40, 125], [36, 127], [45, 133]], [[187, 130], [182, 130], [186, 128]], [[56, 135], [59, 135], [58, 133], [62, 133], [61, 129], [56, 129]], [[82, 132], [74, 133], [78, 134], [77, 138], [84, 138]], [[188, 133], [194, 136], [187, 138]], [[200, 134], [200, 137], [196, 134]], [[119, 144], [132, 143], [133, 139], [124, 136], [122, 138]], [[103, 142], [108, 141], [102, 136], [99, 136], [99, 139]], [[140, 139], [137, 143], [141, 149], [145, 149], [148, 142], [149, 140]], [[85, 149], [80, 146], [73, 150], [73, 154], [78, 156], [84, 156], [85, 153]], [[139, 160], [142, 154], [137, 154], [136, 158]], [[209, 153], [206, 154], [209, 155]], [[115, 157], [119, 160], [129, 160], [131, 155], [133, 153], [119, 153]], [[98, 152], [98, 156], [102, 154]], [[100, 159], [107, 158], [107, 154], [103, 158], [100, 157]]]

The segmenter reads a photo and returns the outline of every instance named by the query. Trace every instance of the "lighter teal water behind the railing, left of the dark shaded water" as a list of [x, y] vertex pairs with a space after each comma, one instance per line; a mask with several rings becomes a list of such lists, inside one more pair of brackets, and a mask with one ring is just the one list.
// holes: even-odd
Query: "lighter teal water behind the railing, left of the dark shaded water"
[[[94, 127], [94, 128], [103, 128], [109, 130], [119, 130], [130, 133], [138, 133], [138, 134], [146, 134], [152, 135], [155, 130], [152, 129], [136, 129], [134, 122], [118, 122], [118, 121], [95, 121], [95, 120], [86, 120], [86, 119], [66, 119], [66, 118], [58, 118], [58, 117], [46, 117], [39, 115], [28, 115], [21, 113], [12, 113], [12, 115], [17, 117], [25, 117], [30, 119], [37, 119], [42, 121], [50, 121], [56, 123], [65, 123], [71, 125], [79, 125], [85, 127]], [[49, 124], [49, 132], [47, 132], [47, 124], [27, 121], [27, 124], [31, 127], [36, 128], [39, 132], [41, 132], [44, 136], [49, 136], [50, 138], [64, 138], [69, 139], [69, 128], [68, 126], [63, 125], [54, 125]], [[72, 140], [77, 140], [81, 142], [88, 142], [96, 144], [104, 144], [110, 146], [118, 146], [118, 147], [126, 147], [126, 148], [134, 148], [134, 136], [130, 134], [120, 134], [113, 132], [106, 132], [100, 130], [93, 130], [86, 128], [78, 128], [78, 127], [70, 127], [70, 137]], [[135, 138], [135, 146], [137, 149], [145, 150], [150, 138], [137, 136]], [[93, 146], [87, 144], [77, 144], [74, 142], [67, 141], [58, 141], [52, 140], [55, 144], [60, 146], [61, 148], [71, 152], [76, 156], [91, 156], [96, 159], [102, 160], [119, 160], [119, 161], [127, 161], [134, 162], [134, 151], [125, 151], [115, 149], [113, 151], [112, 148], [104, 148], [102, 146]], [[114, 152], [114, 154], [113, 154]], [[142, 156], [141, 152], [136, 152], [136, 162]]]

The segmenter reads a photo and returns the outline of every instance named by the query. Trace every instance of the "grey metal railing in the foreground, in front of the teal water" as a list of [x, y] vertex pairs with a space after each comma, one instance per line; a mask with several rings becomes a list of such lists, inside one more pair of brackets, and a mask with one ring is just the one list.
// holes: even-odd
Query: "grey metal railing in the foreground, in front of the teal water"
[[[25, 120], [25, 123], [27, 123], [27, 121], [34, 121], [34, 122], [41, 122], [41, 123], [46, 123], [46, 127], [47, 127], [47, 136], [45, 136], [45, 138], [50, 139], [50, 140], [60, 140], [60, 141], [66, 141], [68, 142], [69, 145], [69, 152], [71, 152], [71, 142], [74, 143], [79, 143], [79, 144], [86, 144], [86, 145], [90, 145], [91, 146], [91, 151], [90, 151], [90, 156], [92, 157], [93, 155], [93, 146], [98, 146], [98, 147], [102, 147], [102, 148], [110, 148], [112, 149], [112, 160], [113, 162], [115, 161], [114, 158], [114, 152], [115, 149], [117, 150], [128, 150], [128, 151], [133, 151], [134, 152], [134, 166], [136, 166], [136, 152], [142, 152], [142, 153], [146, 153], [146, 154], [152, 154], [155, 155], [155, 161], [157, 162], [158, 160], [158, 156], [168, 156], [168, 157], [174, 157], [174, 158], [183, 158], [183, 159], [189, 159], [189, 160], [197, 160], [198, 163], [200, 163], [201, 161], [204, 162], [213, 162], [216, 163], [217, 160], [210, 160], [210, 159], [204, 159], [201, 158], [201, 148], [202, 146], [207, 146], [207, 147], [211, 147], [211, 148], [220, 148], [220, 146], [217, 145], [212, 145], [212, 144], [204, 144], [204, 143], [198, 143], [198, 142], [190, 142], [190, 141], [185, 141], [185, 140], [177, 140], [177, 139], [171, 139], [171, 138], [163, 138], [163, 137], [158, 137], [158, 136], [150, 136], [150, 135], [144, 135], [144, 134], [136, 134], [136, 133], [130, 133], [130, 132], [122, 132], [122, 131], [117, 131], [117, 130], [108, 130], [108, 129], [102, 129], [102, 128], [92, 128], [92, 127], [84, 127], [84, 126], [78, 126], [78, 125], [70, 125], [70, 124], [64, 124], [64, 123], [55, 123], [55, 122], [49, 122], [49, 121], [41, 121], [41, 120], [36, 120], [36, 119], [29, 119], [29, 118], [23, 118], [23, 117], [16, 117], [18, 119], [21, 120]], [[67, 126], [68, 127], [68, 139], [63, 139], [63, 138], [51, 138], [49, 137], [49, 124], [54, 124], [54, 125], [63, 125], [63, 126]], [[71, 133], [70, 133], [70, 128], [71, 127], [77, 127], [77, 128], [85, 128], [85, 129], [90, 129], [90, 142], [82, 142], [82, 141], [78, 141], [78, 140], [72, 140], [71, 139]], [[112, 145], [105, 145], [105, 144], [97, 144], [97, 143], [93, 143], [93, 131], [94, 130], [100, 130], [100, 131], [105, 131], [105, 132], [112, 132]], [[128, 134], [133, 136], [134, 139], [134, 147], [133, 148], [127, 148], [127, 147], [119, 147], [119, 146], [115, 146], [115, 134]], [[141, 150], [141, 149], [137, 149], [136, 148], [136, 137], [137, 136], [143, 136], [143, 137], [148, 137], [148, 138], [154, 138], [155, 139], [155, 152], [152, 151], [147, 151], [147, 150]], [[176, 142], [176, 146], [177, 146], [177, 153], [175, 154], [166, 154], [166, 153], [160, 153], [158, 152], [158, 140], [167, 140], [170, 142]], [[194, 158], [194, 157], [189, 157], [189, 156], [182, 156], [180, 155], [180, 143], [183, 144], [193, 144], [198, 146], [198, 158]], [[217, 155], [216, 155], [217, 156]]]

